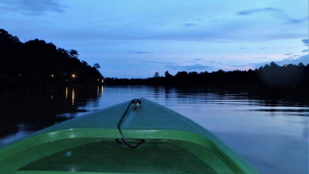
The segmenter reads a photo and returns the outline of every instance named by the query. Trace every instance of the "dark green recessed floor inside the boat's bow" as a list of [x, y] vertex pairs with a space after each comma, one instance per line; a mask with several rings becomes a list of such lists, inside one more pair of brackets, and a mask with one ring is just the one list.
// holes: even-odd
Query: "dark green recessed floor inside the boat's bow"
[[[57, 145], [57, 146], [56, 146]], [[58, 146], [61, 145], [62, 148]], [[50, 152], [50, 155], [40, 154]], [[29, 158], [31, 154], [32, 158]], [[207, 156], [207, 158], [205, 158]], [[33, 159], [34, 157], [38, 159]], [[129, 149], [115, 139], [73, 138], [45, 143], [10, 159], [25, 165], [17, 173], [231, 173], [205, 147], [177, 140], [148, 139]]]

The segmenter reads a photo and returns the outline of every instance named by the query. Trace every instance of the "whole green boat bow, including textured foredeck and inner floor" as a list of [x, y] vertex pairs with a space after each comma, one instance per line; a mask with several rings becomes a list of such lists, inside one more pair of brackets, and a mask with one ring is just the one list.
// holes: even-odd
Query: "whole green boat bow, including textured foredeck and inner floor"
[[141, 100], [120, 126], [125, 138], [146, 140], [136, 149], [115, 141], [128, 101], [1, 146], [0, 173], [260, 173], [197, 123]]

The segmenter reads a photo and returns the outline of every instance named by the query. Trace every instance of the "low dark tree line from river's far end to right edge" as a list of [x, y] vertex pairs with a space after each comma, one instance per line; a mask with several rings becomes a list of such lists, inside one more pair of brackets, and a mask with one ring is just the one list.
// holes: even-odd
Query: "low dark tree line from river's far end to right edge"
[[248, 71], [213, 71], [213, 72], [177, 72], [164, 76], [155, 72], [153, 77], [141, 78], [105, 78], [110, 85], [164, 85], [181, 87], [204, 87], [216, 89], [260, 91], [273, 94], [295, 94], [308, 96], [308, 65], [286, 64], [279, 66], [274, 62]]

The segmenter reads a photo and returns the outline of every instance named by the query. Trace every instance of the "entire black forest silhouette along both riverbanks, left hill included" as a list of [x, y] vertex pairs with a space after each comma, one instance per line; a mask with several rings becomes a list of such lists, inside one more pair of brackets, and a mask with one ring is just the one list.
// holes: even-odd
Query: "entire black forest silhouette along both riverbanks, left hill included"
[[153, 77], [104, 78], [100, 65], [88, 65], [78, 59], [78, 51], [57, 48], [44, 40], [20, 42], [4, 29], [0, 29], [0, 88], [50, 87], [53, 85], [164, 85], [180, 87], [248, 90], [268, 94], [308, 97], [308, 65], [274, 62], [248, 71], [177, 72], [164, 76], [158, 72]]

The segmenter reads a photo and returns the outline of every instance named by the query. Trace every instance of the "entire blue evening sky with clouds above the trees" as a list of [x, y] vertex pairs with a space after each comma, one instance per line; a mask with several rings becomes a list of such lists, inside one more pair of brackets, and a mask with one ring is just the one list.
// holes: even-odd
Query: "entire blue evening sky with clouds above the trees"
[[0, 0], [0, 28], [99, 63], [105, 77], [308, 63], [308, 0]]

